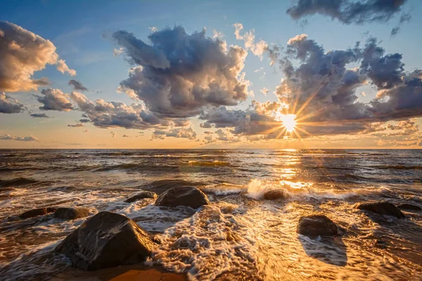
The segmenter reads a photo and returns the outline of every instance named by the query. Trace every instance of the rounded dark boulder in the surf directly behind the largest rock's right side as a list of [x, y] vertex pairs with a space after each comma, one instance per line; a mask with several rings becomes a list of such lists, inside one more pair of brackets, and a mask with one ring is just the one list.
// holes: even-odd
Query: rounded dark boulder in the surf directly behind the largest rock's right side
[[157, 206], [188, 206], [197, 209], [202, 205], [210, 204], [207, 195], [204, 192], [193, 188], [192, 186], [181, 186], [178, 188], [171, 188], [162, 193], [155, 201]]

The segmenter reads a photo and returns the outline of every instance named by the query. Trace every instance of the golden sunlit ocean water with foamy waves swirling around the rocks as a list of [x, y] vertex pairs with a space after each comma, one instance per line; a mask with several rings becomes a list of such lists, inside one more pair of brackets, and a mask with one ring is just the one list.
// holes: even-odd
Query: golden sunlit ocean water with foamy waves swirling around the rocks
[[[85, 218], [16, 218], [49, 206], [134, 219], [161, 240], [146, 264], [190, 280], [422, 280], [422, 212], [397, 219], [353, 208], [422, 206], [421, 181], [422, 150], [0, 150], [0, 280], [75, 270], [53, 249]], [[211, 204], [124, 202], [177, 185], [200, 188]], [[274, 189], [287, 198], [262, 199]], [[325, 214], [342, 235], [298, 235], [307, 214]]]

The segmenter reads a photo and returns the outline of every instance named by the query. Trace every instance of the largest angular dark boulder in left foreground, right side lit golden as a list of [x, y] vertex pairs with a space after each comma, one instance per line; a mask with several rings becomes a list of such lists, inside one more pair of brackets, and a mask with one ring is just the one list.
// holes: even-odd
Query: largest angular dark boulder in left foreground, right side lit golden
[[140, 263], [151, 256], [151, 235], [126, 216], [101, 211], [70, 233], [56, 251], [83, 270]]

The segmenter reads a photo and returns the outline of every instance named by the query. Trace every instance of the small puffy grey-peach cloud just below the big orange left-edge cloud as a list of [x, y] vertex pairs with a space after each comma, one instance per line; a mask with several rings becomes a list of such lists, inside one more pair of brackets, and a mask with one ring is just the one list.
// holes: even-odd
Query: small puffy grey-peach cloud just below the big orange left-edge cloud
[[39, 103], [43, 104], [39, 107], [40, 110], [70, 111], [74, 109], [69, 95], [59, 89], [43, 89], [41, 94], [43, 96], [34, 95]]

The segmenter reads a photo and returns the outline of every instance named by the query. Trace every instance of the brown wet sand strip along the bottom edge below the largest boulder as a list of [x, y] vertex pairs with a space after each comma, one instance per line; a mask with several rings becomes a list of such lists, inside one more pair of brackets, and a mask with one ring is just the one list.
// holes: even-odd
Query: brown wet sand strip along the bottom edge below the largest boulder
[[143, 265], [118, 266], [94, 271], [66, 270], [51, 278], [51, 281], [186, 281], [182, 273], [172, 273], [160, 267]]

